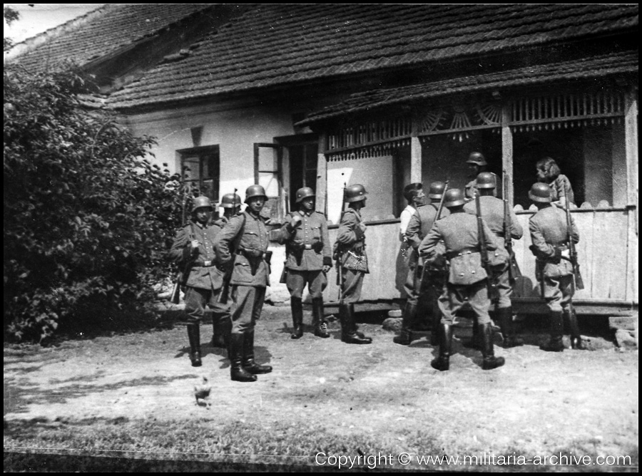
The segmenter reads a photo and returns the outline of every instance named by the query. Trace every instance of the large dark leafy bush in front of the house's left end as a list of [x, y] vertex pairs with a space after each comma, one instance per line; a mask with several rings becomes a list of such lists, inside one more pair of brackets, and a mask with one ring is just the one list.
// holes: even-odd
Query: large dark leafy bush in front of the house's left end
[[145, 158], [153, 138], [83, 107], [85, 87], [71, 68], [4, 69], [5, 340], [41, 341], [92, 309], [149, 316], [170, 272], [178, 176]]

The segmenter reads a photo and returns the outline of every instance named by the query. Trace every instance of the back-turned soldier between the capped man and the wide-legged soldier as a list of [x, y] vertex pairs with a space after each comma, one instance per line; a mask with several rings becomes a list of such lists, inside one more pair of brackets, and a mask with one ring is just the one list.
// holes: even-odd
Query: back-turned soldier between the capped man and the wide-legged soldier
[[[417, 208], [417, 212], [410, 217], [410, 222], [406, 229], [405, 239], [412, 247], [412, 251], [408, 252], [409, 270], [404, 284], [404, 290], [408, 297], [406, 305], [404, 306], [401, 332], [399, 336], [395, 336], [392, 339], [394, 343], [399, 343], [402, 346], [407, 346], [412, 342], [412, 325], [417, 318], [419, 300], [425, 302], [426, 308], [432, 318], [432, 343], [433, 345], [437, 345], [437, 328], [439, 328], [439, 320], [442, 318], [437, 307], [437, 298], [442, 294], [444, 287], [444, 269], [442, 268], [440, 270], [437, 263], [433, 262], [424, 274], [424, 262], [423, 259], [419, 257], [417, 249], [422, 239], [424, 239], [432, 228], [434, 219], [437, 217], [439, 201], [442, 200], [445, 187], [444, 182], [432, 182], [430, 184], [428, 190], [429, 205]], [[442, 208], [440, 217], [445, 217], [448, 214], [448, 209]], [[440, 255], [440, 258], [443, 258], [443, 256]], [[426, 266], [428, 266], [428, 264], [426, 264]], [[422, 276], [424, 276], [424, 281], [426, 281], [424, 283], [422, 283]]]

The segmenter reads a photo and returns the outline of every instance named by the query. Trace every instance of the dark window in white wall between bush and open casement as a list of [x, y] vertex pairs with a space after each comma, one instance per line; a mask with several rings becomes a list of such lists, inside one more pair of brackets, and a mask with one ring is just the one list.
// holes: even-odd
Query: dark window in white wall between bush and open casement
[[190, 185], [192, 195], [204, 195], [218, 202], [220, 157], [218, 145], [178, 150], [180, 170], [185, 185]]

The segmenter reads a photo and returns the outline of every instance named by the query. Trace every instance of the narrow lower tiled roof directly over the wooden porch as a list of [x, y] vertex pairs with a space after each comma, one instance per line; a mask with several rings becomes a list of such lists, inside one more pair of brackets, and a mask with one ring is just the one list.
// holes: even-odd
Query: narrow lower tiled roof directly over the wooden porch
[[389, 105], [437, 98], [442, 95], [471, 93], [495, 88], [504, 89], [512, 86], [541, 86], [553, 81], [604, 78], [637, 72], [638, 51], [624, 51], [401, 88], [370, 90], [350, 95], [342, 103], [328, 106], [300, 121], [297, 125], [308, 125], [339, 115], [361, 113]]

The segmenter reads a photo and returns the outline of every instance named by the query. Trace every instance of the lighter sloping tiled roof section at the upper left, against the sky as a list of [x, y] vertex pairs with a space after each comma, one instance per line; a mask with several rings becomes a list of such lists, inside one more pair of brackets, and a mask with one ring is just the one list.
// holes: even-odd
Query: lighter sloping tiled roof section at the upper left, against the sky
[[[22, 66], [39, 69], [74, 60], [83, 65], [151, 36], [211, 4], [109, 4], [92, 11], [85, 22], [59, 26], [40, 46], [16, 57]], [[69, 22], [69, 23], [71, 23]]]

